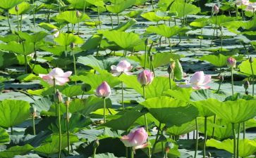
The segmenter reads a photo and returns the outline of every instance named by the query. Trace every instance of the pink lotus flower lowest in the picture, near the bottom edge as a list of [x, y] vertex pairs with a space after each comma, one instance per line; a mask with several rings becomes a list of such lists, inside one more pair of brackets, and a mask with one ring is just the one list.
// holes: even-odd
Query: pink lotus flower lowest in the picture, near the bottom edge
[[122, 136], [121, 141], [126, 147], [141, 149], [147, 147], [147, 132], [143, 127], [133, 129], [127, 136]]

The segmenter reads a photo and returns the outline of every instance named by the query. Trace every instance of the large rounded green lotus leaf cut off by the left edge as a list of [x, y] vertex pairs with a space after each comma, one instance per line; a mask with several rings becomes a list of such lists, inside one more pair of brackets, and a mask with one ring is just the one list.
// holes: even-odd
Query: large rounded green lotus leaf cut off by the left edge
[[23, 100], [0, 102], [0, 126], [11, 127], [22, 123], [30, 116], [30, 103]]

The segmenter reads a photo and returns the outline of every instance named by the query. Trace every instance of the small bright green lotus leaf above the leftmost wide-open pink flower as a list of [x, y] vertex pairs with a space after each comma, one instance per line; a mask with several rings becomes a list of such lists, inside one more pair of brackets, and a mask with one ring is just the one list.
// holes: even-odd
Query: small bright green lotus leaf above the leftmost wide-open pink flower
[[83, 39], [81, 39], [80, 37], [66, 33], [59, 34], [59, 37], [56, 37], [54, 41], [56, 41], [61, 46], [70, 46], [71, 43], [83, 44], [84, 42]]

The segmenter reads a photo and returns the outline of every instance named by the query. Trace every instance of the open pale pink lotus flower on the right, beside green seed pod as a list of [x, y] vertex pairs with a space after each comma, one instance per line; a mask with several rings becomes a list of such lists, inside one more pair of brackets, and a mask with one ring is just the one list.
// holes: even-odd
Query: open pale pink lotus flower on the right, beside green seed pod
[[210, 87], [207, 86], [207, 84], [209, 84], [209, 82], [211, 82], [211, 81], [212, 81], [211, 75], [205, 75], [204, 72], [200, 71], [200, 72], [195, 72], [195, 74], [192, 75], [189, 83], [188, 83], [188, 81], [186, 81], [185, 85], [181, 84], [179, 86], [180, 87], [192, 87], [195, 90], [208, 89]]

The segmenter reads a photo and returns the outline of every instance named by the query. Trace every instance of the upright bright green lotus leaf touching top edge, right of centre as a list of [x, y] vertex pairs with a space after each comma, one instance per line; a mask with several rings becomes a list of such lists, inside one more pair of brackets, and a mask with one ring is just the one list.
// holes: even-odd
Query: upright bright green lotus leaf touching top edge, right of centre
[[177, 17], [181, 18], [185, 15], [197, 14], [200, 12], [200, 8], [193, 5], [187, 4], [183, 1], [175, 1], [170, 8], [171, 13], [177, 13]]

